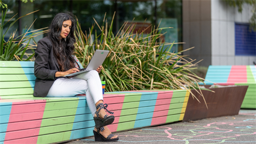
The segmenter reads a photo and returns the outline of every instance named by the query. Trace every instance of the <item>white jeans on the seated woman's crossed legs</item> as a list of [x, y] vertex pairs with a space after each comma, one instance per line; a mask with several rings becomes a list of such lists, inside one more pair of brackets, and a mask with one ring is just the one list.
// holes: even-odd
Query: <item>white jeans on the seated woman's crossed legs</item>
[[56, 79], [46, 97], [74, 97], [83, 93], [86, 94], [87, 104], [94, 116], [95, 103], [103, 100], [102, 84], [96, 70], [79, 74], [73, 78]]

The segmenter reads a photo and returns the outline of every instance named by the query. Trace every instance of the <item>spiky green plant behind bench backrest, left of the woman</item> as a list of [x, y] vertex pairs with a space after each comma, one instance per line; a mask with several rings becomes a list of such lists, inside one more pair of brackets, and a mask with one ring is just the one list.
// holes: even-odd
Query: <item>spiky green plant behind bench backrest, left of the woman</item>
[[[6, 9], [7, 11], [7, 9]], [[4, 31], [4, 26], [6, 26], [6, 24], [8, 22], [10, 22], [10, 20], [15, 17], [15, 15], [9, 20], [7, 21], [6, 23], [4, 23], [4, 19], [5, 19], [5, 15], [6, 15], [6, 11], [5, 13], [3, 13], [2, 11], [2, 22], [1, 22], [1, 25], [0, 25], [0, 60], [2, 61], [12, 61], [12, 60], [25, 60], [25, 61], [28, 61], [30, 59], [33, 58], [34, 56], [34, 50], [35, 47], [36, 47], [36, 42], [34, 41], [34, 37], [36, 37], [37, 35], [41, 35], [43, 33], [46, 33], [46, 31], [39, 31], [39, 30], [42, 30], [42, 29], [38, 29], [38, 30], [34, 30], [34, 31], [30, 31], [28, 32], [27, 31], [23, 31], [23, 34], [20, 35], [20, 36], [16, 36], [16, 31], [14, 31], [11, 36], [9, 37], [8, 41], [5, 42], [4, 41], [4, 37], [7, 33], [7, 31], [13, 26], [13, 24], [15, 22], [17, 22], [20, 18], [22, 17], [25, 17], [26, 15], [29, 15], [31, 13], [34, 13], [34, 12], [31, 12], [31, 13], [28, 13], [26, 15], [23, 15], [22, 17], [16, 19], [15, 21], [13, 21], [9, 27], [6, 28], [6, 31], [5, 33], [3, 33]], [[43, 28], [44, 29], [44, 28]], [[32, 34], [33, 33], [33, 34]], [[29, 44], [30, 41], [34, 41], [35, 44]], [[33, 53], [26, 53], [27, 50], [31, 50]], [[24, 55], [27, 56], [27, 58], [24, 57]], [[32, 59], [33, 60], [33, 59]]]

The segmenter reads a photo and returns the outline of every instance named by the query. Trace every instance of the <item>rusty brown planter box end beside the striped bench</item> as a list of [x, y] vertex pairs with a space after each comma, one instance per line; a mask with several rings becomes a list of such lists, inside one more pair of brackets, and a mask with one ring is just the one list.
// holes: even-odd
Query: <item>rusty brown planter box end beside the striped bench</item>
[[202, 93], [208, 109], [205, 106], [203, 97], [195, 90], [191, 90], [201, 103], [193, 99], [191, 94], [189, 95], [183, 122], [210, 117], [238, 115], [247, 88], [248, 86], [231, 86], [209, 89], [215, 91], [215, 93], [203, 90]]

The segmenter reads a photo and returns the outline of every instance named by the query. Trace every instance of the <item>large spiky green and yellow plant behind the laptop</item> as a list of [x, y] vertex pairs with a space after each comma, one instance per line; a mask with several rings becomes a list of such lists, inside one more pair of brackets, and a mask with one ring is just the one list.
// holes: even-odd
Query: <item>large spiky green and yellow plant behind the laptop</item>
[[[145, 34], [145, 29], [133, 34], [135, 23], [127, 26], [126, 22], [114, 35], [113, 20], [110, 26], [105, 19], [102, 26], [95, 22], [101, 34], [95, 31], [93, 39], [95, 24], [84, 34], [77, 20], [75, 54], [85, 67], [96, 49], [110, 51], [100, 74], [101, 80], [106, 81], [106, 91], [181, 89], [184, 84], [196, 90], [197, 83], [203, 82], [203, 78], [190, 71], [195, 69], [192, 68], [196, 65], [192, 63], [194, 60], [187, 61], [181, 52], [170, 52], [174, 42], [159, 42], [164, 28], [148, 27], [152, 29], [150, 34]], [[164, 45], [169, 48], [164, 50]]]

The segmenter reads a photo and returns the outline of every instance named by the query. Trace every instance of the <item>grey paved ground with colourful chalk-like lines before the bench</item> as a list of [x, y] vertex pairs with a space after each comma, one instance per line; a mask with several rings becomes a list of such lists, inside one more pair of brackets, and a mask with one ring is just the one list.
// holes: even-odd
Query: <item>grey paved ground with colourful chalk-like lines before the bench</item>
[[[115, 132], [114, 143], [256, 143], [256, 110], [240, 110], [239, 115], [177, 122], [133, 131]], [[65, 144], [95, 142], [94, 137]]]

